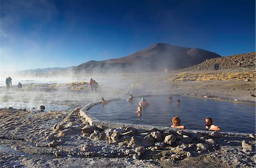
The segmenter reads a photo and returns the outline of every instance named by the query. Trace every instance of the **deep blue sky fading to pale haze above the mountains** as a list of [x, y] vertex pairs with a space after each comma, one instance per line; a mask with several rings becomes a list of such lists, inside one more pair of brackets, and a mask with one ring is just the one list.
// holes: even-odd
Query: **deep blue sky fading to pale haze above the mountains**
[[1, 71], [69, 67], [165, 42], [255, 51], [254, 0], [0, 0]]

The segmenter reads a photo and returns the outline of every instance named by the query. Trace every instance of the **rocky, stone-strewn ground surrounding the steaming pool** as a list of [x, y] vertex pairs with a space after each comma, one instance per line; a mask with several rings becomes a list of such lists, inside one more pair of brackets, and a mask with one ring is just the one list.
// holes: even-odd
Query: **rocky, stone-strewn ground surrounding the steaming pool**
[[[250, 71], [255, 76], [251, 67], [220, 73], [227, 71]], [[84, 81], [27, 84], [22, 91], [0, 88], [1, 104], [7, 107], [0, 109], [1, 167], [255, 167], [255, 134], [93, 127], [79, 115], [80, 107], [102, 96], [127, 98], [130, 93], [181, 94], [255, 105], [253, 80], [170, 80], [184, 72], [212, 70], [94, 74], [100, 83], [98, 92], [90, 91]], [[31, 106], [24, 109], [26, 102]], [[19, 106], [8, 108], [11, 105]], [[47, 105], [46, 111], [39, 111], [39, 105]], [[51, 110], [51, 105], [69, 109]]]

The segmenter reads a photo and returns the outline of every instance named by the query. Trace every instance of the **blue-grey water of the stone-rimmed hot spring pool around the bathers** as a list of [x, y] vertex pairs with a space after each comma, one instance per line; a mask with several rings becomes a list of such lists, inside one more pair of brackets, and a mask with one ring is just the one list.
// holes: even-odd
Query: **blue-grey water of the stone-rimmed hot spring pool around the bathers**
[[[205, 130], [204, 119], [211, 117], [213, 124], [221, 127], [221, 131], [255, 132], [255, 106], [253, 105], [184, 96], [172, 96], [172, 104], [168, 103], [168, 96], [145, 98], [150, 105], [142, 111], [141, 118], [137, 115], [138, 102], [141, 97], [134, 98], [133, 103], [117, 100], [107, 105], [96, 105], [89, 109], [89, 113], [104, 121], [154, 126], [170, 126], [171, 119], [178, 115], [181, 124], [189, 130]], [[176, 104], [178, 99], [181, 101], [179, 107]]]

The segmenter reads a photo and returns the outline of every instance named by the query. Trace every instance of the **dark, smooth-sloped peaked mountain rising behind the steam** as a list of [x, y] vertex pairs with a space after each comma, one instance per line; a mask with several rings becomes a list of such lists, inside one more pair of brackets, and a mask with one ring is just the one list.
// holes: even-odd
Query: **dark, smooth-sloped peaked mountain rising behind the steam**
[[[105, 61], [89, 61], [73, 68], [75, 72], [104, 71], [163, 71], [177, 70], [199, 64], [205, 59], [221, 57], [216, 53], [196, 48], [158, 43], [137, 53]], [[118, 69], [117, 69], [118, 68]]]

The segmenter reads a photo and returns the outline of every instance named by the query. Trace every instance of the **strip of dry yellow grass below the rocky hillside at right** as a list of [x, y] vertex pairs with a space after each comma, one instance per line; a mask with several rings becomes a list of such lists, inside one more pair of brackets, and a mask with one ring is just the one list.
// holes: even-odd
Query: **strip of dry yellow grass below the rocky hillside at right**
[[223, 72], [223, 73], [181, 73], [170, 76], [169, 81], [209, 81], [209, 80], [234, 80], [234, 81], [255, 81], [255, 71]]

